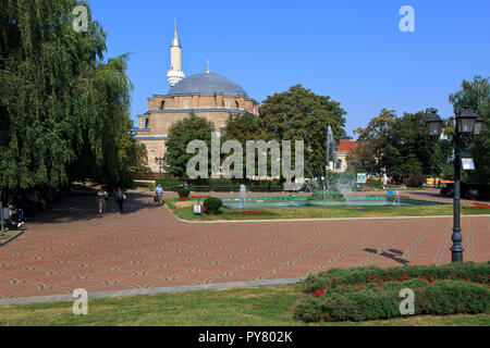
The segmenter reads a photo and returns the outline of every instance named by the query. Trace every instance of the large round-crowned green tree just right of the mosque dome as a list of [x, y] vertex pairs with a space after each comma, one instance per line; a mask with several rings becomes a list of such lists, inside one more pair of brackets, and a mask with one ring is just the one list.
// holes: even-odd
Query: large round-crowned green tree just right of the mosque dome
[[339, 102], [296, 85], [268, 97], [259, 112], [259, 124], [267, 139], [291, 140], [293, 145], [294, 140], [304, 140], [306, 174], [324, 175], [327, 127], [332, 127], [336, 142], [345, 135], [346, 112]]

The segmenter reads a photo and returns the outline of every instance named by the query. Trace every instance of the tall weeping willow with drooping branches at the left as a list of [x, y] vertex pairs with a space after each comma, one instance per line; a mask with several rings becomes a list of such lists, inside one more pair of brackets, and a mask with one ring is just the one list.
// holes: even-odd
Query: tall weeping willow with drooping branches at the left
[[[88, 28], [73, 28], [73, 9]], [[131, 137], [127, 55], [105, 61], [106, 33], [86, 3], [2, 0], [0, 189], [127, 179], [145, 149]]]

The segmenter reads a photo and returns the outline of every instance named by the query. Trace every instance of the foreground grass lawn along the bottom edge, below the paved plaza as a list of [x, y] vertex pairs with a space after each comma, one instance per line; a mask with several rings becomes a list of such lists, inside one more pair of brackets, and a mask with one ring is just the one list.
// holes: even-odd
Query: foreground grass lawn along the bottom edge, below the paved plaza
[[[136, 296], [88, 301], [88, 315], [74, 315], [73, 302], [0, 307], [4, 325], [193, 325], [273, 326], [306, 325], [293, 318], [304, 296], [299, 284]], [[368, 322], [315, 323], [308, 325], [449, 326], [490, 325], [490, 314], [409, 316]]]

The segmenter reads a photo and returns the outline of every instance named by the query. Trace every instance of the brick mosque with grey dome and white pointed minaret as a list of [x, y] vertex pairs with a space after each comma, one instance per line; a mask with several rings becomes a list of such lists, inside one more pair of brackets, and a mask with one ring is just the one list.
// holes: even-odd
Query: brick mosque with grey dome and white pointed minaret
[[148, 98], [148, 111], [137, 116], [135, 138], [146, 146], [148, 166], [157, 173], [155, 158], [163, 157], [168, 130], [175, 122], [194, 112], [215, 124], [217, 130], [224, 128], [229, 116], [249, 112], [258, 115], [258, 102], [231, 79], [211, 73], [185, 77], [182, 70], [182, 46], [176, 21], [170, 46], [170, 70], [167, 73], [170, 89], [167, 95]]

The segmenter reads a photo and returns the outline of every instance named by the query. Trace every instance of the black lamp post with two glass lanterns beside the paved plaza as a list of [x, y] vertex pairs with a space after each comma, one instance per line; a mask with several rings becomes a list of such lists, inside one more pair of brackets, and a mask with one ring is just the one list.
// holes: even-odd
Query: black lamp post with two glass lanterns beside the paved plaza
[[[453, 262], [463, 262], [463, 247], [461, 243], [463, 236], [461, 234], [461, 169], [462, 169], [462, 148], [464, 147], [464, 137], [480, 135], [483, 120], [470, 110], [465, 110], [461, 115], [455, 117], [454, 134], [454, 212], [453, 212], [453, 246], [450, 248]], [[427, 130], [431, 136], [439, 136], [442, 129], [442, 120], [436, 114], [436, 110], [431, 111], [429, 119], [426, 121]]]

